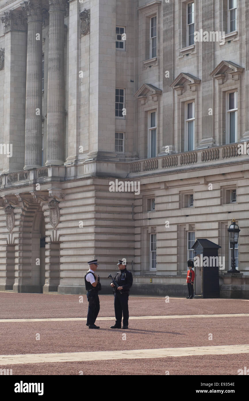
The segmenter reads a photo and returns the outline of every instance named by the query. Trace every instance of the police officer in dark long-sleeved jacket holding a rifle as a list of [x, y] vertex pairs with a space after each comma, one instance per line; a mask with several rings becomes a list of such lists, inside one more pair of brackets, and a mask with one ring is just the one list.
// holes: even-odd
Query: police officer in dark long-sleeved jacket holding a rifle
[[113, 283], [111, 286], [114, 287], [114, 310], [116, 323], [111, 328], [121, 328], [122, 313], [123, 313], [123, 329], [128, 328], [129, 310], [128, 310], [128, 298], [129, 289], [132, 286], [133, 277], [129, 270], [126, 269], [125, 259], [119, 260], [117, 265], [119, 268], [119, 273], [116, 274], [114, 280], [118, 283], [117, 288]]

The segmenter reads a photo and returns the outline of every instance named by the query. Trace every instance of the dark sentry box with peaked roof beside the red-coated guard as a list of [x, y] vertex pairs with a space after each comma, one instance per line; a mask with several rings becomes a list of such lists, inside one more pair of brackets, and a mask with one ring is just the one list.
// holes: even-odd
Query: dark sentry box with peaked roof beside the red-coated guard
[[218, 256], [220, 245], [208, 239], [195, 241], [194, 250], [194, 297], [219, 298], [219, 269], [225, 268], [225, 258]]

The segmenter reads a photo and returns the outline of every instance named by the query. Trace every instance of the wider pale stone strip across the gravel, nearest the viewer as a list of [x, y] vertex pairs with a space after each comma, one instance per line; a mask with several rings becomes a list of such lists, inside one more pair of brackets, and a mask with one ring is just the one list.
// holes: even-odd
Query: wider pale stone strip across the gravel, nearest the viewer
[[165, 358], [168, 356], [248, 354], [249, 345], [156, 348], [124, 351], [65, 352], [56, 354], [0, 355], [0, 365], [25, 363], [76, 362], [86, 360]]

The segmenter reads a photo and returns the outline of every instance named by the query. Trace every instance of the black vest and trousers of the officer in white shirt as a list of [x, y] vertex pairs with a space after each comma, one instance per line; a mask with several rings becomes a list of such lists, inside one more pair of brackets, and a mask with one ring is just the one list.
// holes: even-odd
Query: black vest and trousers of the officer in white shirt
[[[92, 273], [92, 271], [88, 271], [86, 275], [87, 274], [92, 274], [95, 280], [95, 275], [94, 273]], [[98, 292], [101, 290], [101, 284], [100, 284], [100, 277], [98, 277], [98, 284], [96, 287], [93, 287], [92, 284], [86, 280], [86, 275], [85, 275], [85, 286], [87, 290], [86, 296], [89, 302], [86, 324], [87, 326], [89, 326], [95, 323], [98, 313], [100, 312], [100, 300]]]

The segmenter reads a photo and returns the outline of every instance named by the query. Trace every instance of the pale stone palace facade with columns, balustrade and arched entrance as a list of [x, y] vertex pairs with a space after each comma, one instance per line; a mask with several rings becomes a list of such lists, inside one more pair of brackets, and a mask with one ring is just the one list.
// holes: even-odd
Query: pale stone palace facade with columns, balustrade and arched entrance
[[125, 258], [133, 292], [183, 295], [207, 238], [221, 296], [248, 298], [249, 2], [0, 0], [0, 19], [0, 290], [81, 294], [98, 259], [107, 292]]

